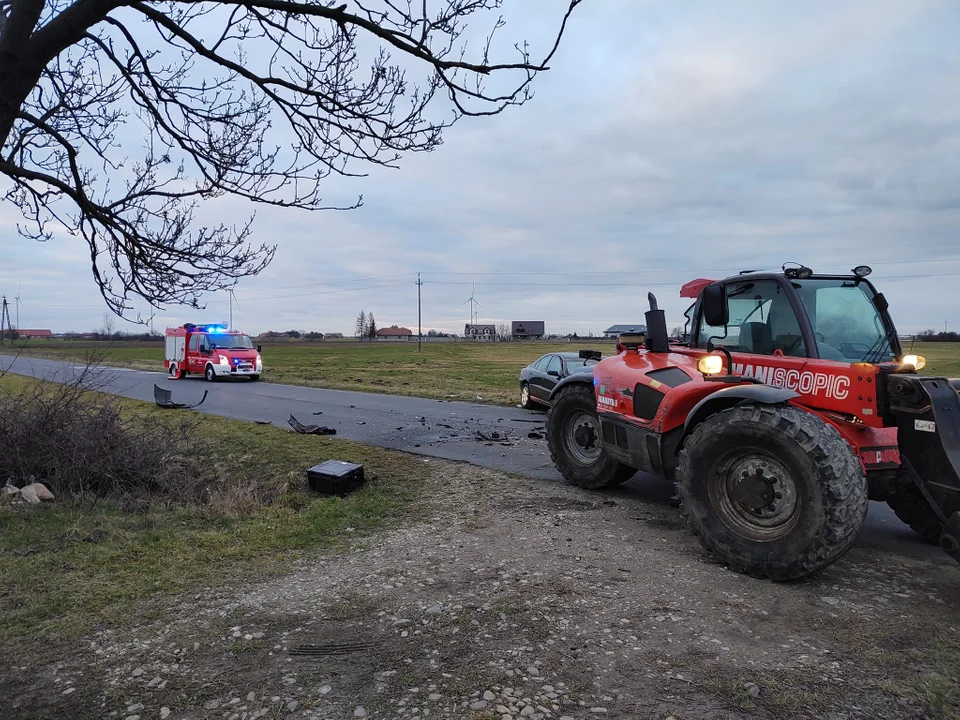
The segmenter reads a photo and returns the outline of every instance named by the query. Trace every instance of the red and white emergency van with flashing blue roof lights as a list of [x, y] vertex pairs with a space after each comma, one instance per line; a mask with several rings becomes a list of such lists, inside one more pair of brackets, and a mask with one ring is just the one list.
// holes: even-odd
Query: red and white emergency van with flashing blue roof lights
[[259, 380], [263, 372], [260, 346], [254, 348], [245, 333], [222, 325], [167, 328], [166, 341], [163, 365], [174, 379], [194, 374], [210, 382], [225, 377]]

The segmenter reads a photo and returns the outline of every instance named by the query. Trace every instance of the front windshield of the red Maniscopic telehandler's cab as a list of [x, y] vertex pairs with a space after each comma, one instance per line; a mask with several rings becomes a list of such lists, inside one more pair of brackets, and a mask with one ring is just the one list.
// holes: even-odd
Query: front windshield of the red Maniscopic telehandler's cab
[[896, 359], [893, 330], [884, 327], [868, 284], [813, 278], [795, 280], [794, 287], [810, 317], [821, 358], [873, 363]]

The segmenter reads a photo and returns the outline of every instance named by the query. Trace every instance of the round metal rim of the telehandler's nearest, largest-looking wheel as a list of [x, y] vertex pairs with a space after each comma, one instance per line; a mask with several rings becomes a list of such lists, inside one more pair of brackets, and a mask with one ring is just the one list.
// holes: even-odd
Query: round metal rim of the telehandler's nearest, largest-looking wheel
[[770, 455], [731, 455], [718, 463], [708, 483], [710, 504], [738, 535], [760, 542], [780, 540], [799, 522], [796, 480]]

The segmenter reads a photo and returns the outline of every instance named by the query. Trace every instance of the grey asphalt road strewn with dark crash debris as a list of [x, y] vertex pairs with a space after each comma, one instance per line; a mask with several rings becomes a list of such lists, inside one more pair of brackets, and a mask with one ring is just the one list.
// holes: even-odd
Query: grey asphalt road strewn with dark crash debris
[[[0, 371], [52, 381], [76, 377], [82, 369], [76, 363], [0, 355]], [[99, 387], [106, 392], [148, 402], [154, 400], [154, 384], [171, 390], [173, 401], [180, 403], [198, 402], [207, 391], [206, 400], [196, 412], [251, 422], [269, 421], [284, 428], [289, 427], [287, 420], [293, 415], [303, 424], [335, 428], [337, 436], [347, 440], [563, 482], [550, 462], [543, 439], [542, 412], [250, 382], [245, 378], [217, 383], [193, 377], [171, 380], [161, 372], [122, 368], [105, 369], [99, 381]], [[531, 434], [539, 437], [530, 437]], [[317, 462], [325, 459], [317, 458]], [[673, 486], [662, 479], [638, 474], [612, 494], [665, 503], [673, 494]], [[870, 503], [858, 542], [896, 554], [937, 560], [947, 557], [939, 548], [922, 542], [884, 503]]]

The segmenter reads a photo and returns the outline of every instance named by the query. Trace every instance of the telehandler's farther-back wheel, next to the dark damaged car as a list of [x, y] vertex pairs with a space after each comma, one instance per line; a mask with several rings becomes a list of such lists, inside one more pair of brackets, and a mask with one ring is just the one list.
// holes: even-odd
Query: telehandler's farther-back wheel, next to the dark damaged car
[[585, 490], [620, 485], [637, 472], [604, 451], [592, 385], [560, 390], [547, 413], [547, 445], [564, 479]]

